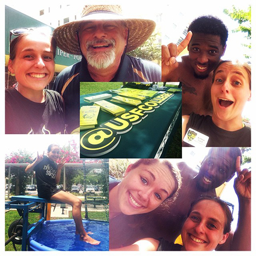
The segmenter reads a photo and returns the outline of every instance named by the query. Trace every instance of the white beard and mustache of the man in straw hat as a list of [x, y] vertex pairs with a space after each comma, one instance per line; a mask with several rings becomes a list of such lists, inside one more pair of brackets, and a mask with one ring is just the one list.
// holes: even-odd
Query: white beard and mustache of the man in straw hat
[[[106, 49], [105, 52], [93, 52], [90, 50], [90, 45], [93, 45], [95, 42], [112, 44], [112, 49]], [[86, 61], [88, 65], [95, 67], [95, 69], [106, 69], [111, 66], [116, 59], [115, 55], [115, 41], [114, 40], [94, 40], [87, 42], [87, 54]]]

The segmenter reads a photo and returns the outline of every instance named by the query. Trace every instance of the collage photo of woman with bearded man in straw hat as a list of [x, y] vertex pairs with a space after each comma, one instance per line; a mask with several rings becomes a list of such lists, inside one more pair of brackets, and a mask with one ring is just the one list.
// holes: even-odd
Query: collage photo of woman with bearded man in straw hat
[[161, 81], [157, 14], [45, 6], [5, 5], [5, 134], [79, 134], [81, 81]]

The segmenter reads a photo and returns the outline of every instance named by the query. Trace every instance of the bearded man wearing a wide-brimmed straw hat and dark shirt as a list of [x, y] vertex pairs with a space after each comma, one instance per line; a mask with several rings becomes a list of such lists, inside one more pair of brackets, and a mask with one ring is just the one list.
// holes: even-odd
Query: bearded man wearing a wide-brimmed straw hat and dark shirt
[[161, 67], [126, 55], [143, 44], [155, 22], [126, 19], [119, 5], [86, 5], [81, 20], [54, 30], [58, 47], [81, 55], [81, 62], [66, 67], [56, 78], [54, 90], [66, 106], [67, 132], [79, 127], [80, 81], [161, 81]]

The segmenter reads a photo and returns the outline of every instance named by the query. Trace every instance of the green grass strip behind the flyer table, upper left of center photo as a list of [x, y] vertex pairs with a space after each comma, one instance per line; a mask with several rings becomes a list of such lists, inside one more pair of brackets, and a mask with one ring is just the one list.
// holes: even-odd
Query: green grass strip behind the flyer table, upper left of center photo
[[113, 89], [119, 89], [123, 86], [122, 82], [82, 82], [80, 83], [80, 95], [86, 95], [91, 93], [99, 93], [100, 91], [108, 91]]

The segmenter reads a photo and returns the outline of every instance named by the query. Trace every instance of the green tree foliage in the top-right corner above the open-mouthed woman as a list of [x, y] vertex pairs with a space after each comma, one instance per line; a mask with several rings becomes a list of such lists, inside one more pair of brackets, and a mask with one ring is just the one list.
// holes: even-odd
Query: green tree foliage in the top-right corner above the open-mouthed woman
[[[248, 10], [240, 10], [233, 5], [232, 10], [224, 9], [223, 12], [239, 23], [237, 29], [232, 30], [232, 32], [246, 33], [245, 37], [248, 39], [248, 44], [244, 44], [244, 46], [251, 49], [251, 5], [248, 6]], [[250, 58], [250, 56], [246, 55], [246, 58]]]

